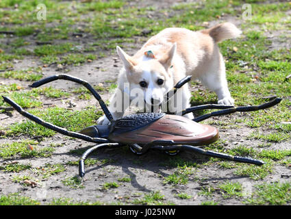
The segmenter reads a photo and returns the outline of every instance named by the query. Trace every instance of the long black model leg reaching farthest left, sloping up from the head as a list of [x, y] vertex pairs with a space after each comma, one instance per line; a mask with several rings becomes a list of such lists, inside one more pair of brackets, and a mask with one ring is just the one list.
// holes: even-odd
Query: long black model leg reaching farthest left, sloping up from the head
[[11, 99], [9, 99], [6, 96], [2, 96], [4, 101], [10, 105], [12, 105], [12, 107], [21, 115], [25, 116], [26, 118], [29, 118], [30, 120], [33, 120], [35, 123], [38, 123], [39, 125], [42, 125], [43, 127], [46, 127], [48, 129], [51, 129], [53, 131], [57, 131], [58, 133], [61, 133], [65, 136], [70, 136], [73, 138], [79, 138], [81, 140], [85, 140], [87, 142], [94, 142], [94, 143], [103, 143], [103, 142], [109, 142], [107, 139], [105, 138], [91, 138], [89, 136], [83, 135], [81, 133], [77, 133], [74, 131], [68, 131], [62, 127], [58, 127], [56, 125], [53, 125], [51, 123], [47, 123], [44, 120], [42, 120], [41, 118], [38, 118], [37, 116], [34, 116], [33, 114], [30, 114], [29, 112], [25, 112], [25, 110], [23, 110], [23, 108], [18, 105], [17, 103], [15, 103], [14, 101], [12, 101]]

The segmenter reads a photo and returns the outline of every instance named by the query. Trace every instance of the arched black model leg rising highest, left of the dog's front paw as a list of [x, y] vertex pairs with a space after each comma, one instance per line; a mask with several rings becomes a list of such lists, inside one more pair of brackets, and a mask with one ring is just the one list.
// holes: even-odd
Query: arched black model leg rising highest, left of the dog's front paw
[[55, 81], [55, 80], [67, 80], [67, 81], [73, 81], [76, 83], [81, 83], [82, 85], [84, 85], [95, 97], [95, 99], [97, 99], [97, 101], [99, 102], [105, 116], [108, 118], [108, 120], [112, 121], [113, 117], [112, 114], [110, 113], [110, 111], [108, 110], [107, 106], [105, 105], [105, 103], [103, 102], [103, 100], [101, 99], [101, 96], [97, 93], [96, 90], [94, 90], [94, 88], [92, 86], [90, 86], [90, 83], [88, 83], [87, 81], [84, 81], [82, 79], [79, 79], [77, 77], [73, 77], [71, 75], [53, 75], [50, 77], [46, 77], [44, 79], [40, 79], [39, 81], [36, 81], [34, 83], [31, 84], [31, 88], [38, 88], [39, 86], [44, 85], [45, 83], [49, 83], [51, 81]]

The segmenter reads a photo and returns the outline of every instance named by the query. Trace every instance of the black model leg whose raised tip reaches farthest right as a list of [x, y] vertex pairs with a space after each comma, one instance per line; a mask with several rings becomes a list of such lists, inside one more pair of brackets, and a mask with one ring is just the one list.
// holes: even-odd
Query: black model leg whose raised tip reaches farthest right
[[257, 110], [264, 110], [268, 107], [273, 107], [274, 105], [277, 105], [278, 103], [281, 102], [281, 98], [277, 98], [273, 101], [270, 101], [268, 103], [264, 103], [262, 105], [255, 105], [255, 106], [246, 106], [246, 107], [234, 107], [234, 108], [229, 108], [227, 110], [219, 110], [216, 112], [212, 112], [210, 114], [205, 114], [202, 116], [198, 116], [197, 118], [194, 118], [194, 122], [200, 122], [202, 120], [205, 120], [207, 118], [210, 118], [212, 116], [222, 116], [222, 115], [227, 115], [227, 114], [233, 114], [234, 112], [251, 112], [251, 111], [257, 111]]

